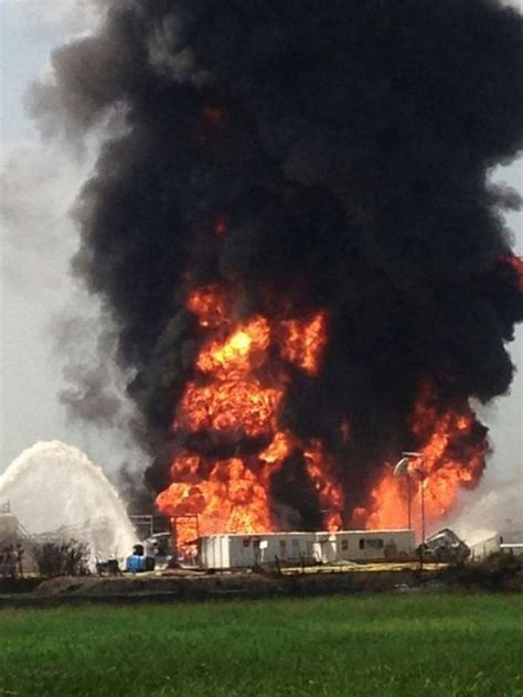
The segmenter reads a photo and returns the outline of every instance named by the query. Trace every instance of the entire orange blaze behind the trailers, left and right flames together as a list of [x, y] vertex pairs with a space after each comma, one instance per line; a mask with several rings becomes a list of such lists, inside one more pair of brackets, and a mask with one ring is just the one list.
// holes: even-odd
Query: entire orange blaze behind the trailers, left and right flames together
[[[441, 410], [436, 389], [426, 384], [409, 423], [420, 454], [412, 459], [408, 476], [394, 476], [384, 465], [365, 504], [346, 511], [346, 482], [341, 481], [337, 458], [320, 438], [302, 439], [280, 426], [289, 371], [299, 368], [312, 378], [321, 369], [327, 314], [236, 319], [231, 297], [232, 289], [207, 286], [186, 300], [202, 343], [172, 425], [185, 450], [171, 464], [171, 485], [157, 498], [161, 513], [177, 519], [186, 516], [177, 526], [180, 544], [202, 534], [280, 527], [271, 510], [271, 478], [292, 453], [302, 459], [329, 530], [348, 525], [405, 527], [408, 508], [412, 525], [419, 530], [421, 487], [430, 526], [452, 507], [460, 486], [477, 483], [488, 451], [485, 430], [467, 401], [460, 409]], [[346, 444], [346, 418], [339, 430]]]

